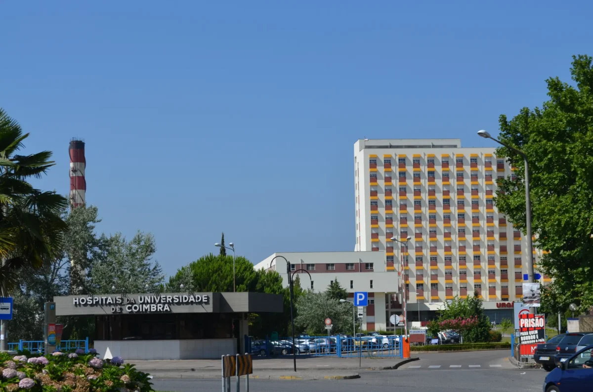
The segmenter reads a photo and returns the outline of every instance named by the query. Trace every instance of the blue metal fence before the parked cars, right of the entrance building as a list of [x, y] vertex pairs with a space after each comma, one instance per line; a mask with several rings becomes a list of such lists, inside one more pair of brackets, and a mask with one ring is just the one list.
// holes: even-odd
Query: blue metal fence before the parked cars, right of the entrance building
[[403, 357], [400, 349], [401, 336], [305, 336], [296, 338], [280, 338], [278, 340], [251, 339], [245, 336], [247, 352], [260, 356], [297, 355], [337, 356], [338, 358], [356, 356], [391, 356]]

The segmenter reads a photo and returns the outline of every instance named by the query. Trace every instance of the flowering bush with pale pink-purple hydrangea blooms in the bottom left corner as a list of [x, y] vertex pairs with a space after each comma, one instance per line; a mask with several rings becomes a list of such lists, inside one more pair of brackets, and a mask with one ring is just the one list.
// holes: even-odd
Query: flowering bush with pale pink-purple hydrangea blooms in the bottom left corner
[[[90, 352], [90, 351], [89, 351]], [[149, 375], [123, 365], [115, 356], [103, 361], [82, 352], [15, 356], [0, 352], [0, 391], [17, 392], [149, 392]]]

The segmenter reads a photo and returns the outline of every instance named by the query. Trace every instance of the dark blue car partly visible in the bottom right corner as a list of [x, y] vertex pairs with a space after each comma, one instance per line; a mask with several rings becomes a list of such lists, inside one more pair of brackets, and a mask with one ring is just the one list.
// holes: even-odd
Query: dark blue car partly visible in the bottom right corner
[[584, 392], [593, 385], [593, 345], [560, 362], [544, 381], [544, 392]]

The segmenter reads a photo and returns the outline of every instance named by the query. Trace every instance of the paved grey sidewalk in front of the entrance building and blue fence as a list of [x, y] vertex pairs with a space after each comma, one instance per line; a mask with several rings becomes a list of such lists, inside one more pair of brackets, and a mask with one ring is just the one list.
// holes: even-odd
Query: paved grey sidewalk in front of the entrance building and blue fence
[[[254, 378], [272, 380], [323, 380], [358, 378], [358, 373], [369, 370], [397, 369], [418, 358], [358, 358], [297, 356], [297, 372], [292, 358], [253, 357]], [[220, 359], [187, 359], [173, 361], [130, 361], [140, 371], [154, 378], [220, 378]]]

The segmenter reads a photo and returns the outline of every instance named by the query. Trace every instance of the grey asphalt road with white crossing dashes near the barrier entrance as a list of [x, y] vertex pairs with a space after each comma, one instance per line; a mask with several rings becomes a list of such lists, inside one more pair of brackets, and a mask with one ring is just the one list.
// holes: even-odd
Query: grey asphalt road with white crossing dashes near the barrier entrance
[[[507, 354], [500, 351], [422, 354], [420, 361], [410, 362], [400, 369], [361, 372], [361, 378], [355, 380], [250, 380], [250, 391], [541, 392], [547, 373], [541, 369], [514, 368], [506, 360]], [[220, 391], [221, 381], [161, 379], [154, 380], [154, 389], [171, 392]], [[234, 381], [231, 390], [235, 391]], [[241, 391], [245, 391], [243, 378]]]

